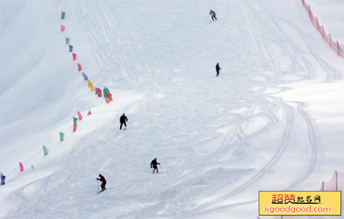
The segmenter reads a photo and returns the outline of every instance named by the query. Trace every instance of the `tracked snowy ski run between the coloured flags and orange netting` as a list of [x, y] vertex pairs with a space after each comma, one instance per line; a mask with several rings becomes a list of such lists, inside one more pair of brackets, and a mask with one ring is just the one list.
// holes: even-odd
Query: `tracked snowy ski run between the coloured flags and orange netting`
[[[251, 187], [263, 190], [264, 181], [274, 177], [275, 165], [290, 156], [286, 152], [299, 130], [307, 133], [299, 150], [308, 152], [308, 163], [290, 172], [289, 181], [279, 189], [293, 189], [312, 174], [316, 137], [303, 103], [284, 102], [266, 94], [266, 88], [279, 93], [288, 89], [280, 85], [314, 78], [314, 62], [325, 72], [324, 82], [338, 80], [341, 73], [316, 54], [305, 39], [308, 33], [277, 16], [272, 1], [261, 1], [259, 8], [243, 1], [216, 1], [228, 17], [219, 15], [211, 24], [202, 20], [203, 15], [191, 14], [213, 5], [189, 2], [180, 11], [178, 2], [74, 1], [100, 78], [148, 99], [129, 115], [127, 130], [116, 132], [118, 119], [112, 119], [80, 139], [61, 170], [14, 192], [8, 200], [21, 204], [6, 218], [202, 218], [234, 212], [240, 205], [257, 205], [252, 196], [241, 202], [228, 200]], [[186, 19], [191, 21], [185, 23]], [[229, 30], [222, 28], [226, 22], [231, 22]], [[295, 36], [306, 49], [295, 44]], [[166, 48], [169, 51], [163, 53]], [[216, 51], [207, 54], [209, 49]], [[219, 78], [216, 58], [195, 66], [197, 58], [208, 56], [222, 59], [226, 72]], [[209, 63], [214, 67], [206, 69]], [[286, 74], [297, 79], [286, 80]], [[252, 130], [255, 119], [264, 124]], [[255, 166], [260, 159], [254, 154], [259, 150], [255, 141], [272, 133], [280, 137], [272, 137], [275, 146], [268, 159]], [[153, 157], [162, 164], [159, 175], [151, 174]], [[96, 194], [99, 172], [107, 178], [103, 194]], [[219, 194], [223, 188], [226, 192]], [[209, 198], [201, 201], [204, 197]]]

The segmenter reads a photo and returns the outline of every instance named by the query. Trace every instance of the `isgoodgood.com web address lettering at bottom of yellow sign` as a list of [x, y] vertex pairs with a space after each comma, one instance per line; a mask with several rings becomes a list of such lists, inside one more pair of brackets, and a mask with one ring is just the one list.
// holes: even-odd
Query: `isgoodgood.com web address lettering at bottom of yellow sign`
[[312, 205], [309, 205], [308, 207], [292, 207], [290, 205], [287, 207], [268, 207], [264, 205], [264, 212], [268, 214], [331, 213], [331, 207], [312, 207]]

